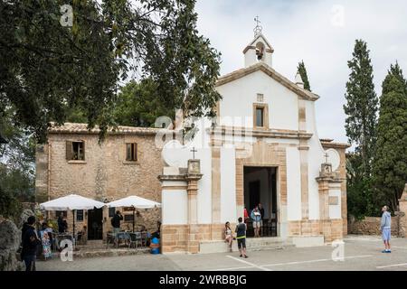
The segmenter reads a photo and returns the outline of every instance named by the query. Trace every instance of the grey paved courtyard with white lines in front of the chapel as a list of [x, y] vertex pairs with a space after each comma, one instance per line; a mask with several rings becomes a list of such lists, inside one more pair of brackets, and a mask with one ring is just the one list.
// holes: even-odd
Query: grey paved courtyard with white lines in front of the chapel
[[285, 249], [249, 252], [242, 259], [238, 253], [208, 255], [136, 255], [76, 258], [71, 262], [53, 259], [38, 261], [37, 270], [153, 270], [153, 271], [289, 271], [349, 270], [407, 271], [407, 238], [393, 238], [393, 252], [383, 254], [379, 237], [350, 236], [345, 238], [344, 260], [333, 261], [334, 247], [288, 247]]

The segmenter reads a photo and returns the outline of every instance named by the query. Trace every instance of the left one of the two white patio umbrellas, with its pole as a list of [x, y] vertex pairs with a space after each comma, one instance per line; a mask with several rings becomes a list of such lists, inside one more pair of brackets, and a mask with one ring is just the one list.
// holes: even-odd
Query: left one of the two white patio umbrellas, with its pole
[[75, 212], [74, 210], [93, 210], [101, 208], [105, 204], [98, 200], [92, 200], [76, 194], [71, 194], [54, 200], [48, 200], [40, 204], [42, 210], [72, 210], [73, 236], [75, 236]]

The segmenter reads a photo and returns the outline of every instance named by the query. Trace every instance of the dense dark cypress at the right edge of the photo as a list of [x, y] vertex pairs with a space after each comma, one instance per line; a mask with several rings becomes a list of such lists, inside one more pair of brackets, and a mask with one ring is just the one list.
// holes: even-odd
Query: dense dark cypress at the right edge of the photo
[[397, 210], [407, 182], [407, 81], [398, 63], [391, 65], [382, 89], [374, 184], [380, 205]]

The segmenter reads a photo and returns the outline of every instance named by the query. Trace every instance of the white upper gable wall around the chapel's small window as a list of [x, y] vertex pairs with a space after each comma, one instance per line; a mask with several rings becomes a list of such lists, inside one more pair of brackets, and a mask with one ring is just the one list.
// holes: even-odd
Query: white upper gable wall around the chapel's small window
[[248, 117], [246, 127], [253, 127], [253, 103], [261, 93], [269, 104], [270, 128], [298, 130], [298, 96], [260, 70], [217, 90], [222, 95], [221, 125], [227, 124], [223, 117]]

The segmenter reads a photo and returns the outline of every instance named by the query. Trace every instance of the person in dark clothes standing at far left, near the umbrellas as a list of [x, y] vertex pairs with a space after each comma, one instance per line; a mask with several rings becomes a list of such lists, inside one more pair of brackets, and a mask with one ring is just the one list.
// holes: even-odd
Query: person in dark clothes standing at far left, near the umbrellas
[[21, 258], [25, 263], [25, 271], [35, 271], [37, 247], [41, 244], [41, 240], [37, 236], [34, 224], [35, 217], [28, 217], [27, 222], [24, 223], [22, 229], [23, 249], [21, 251]]

